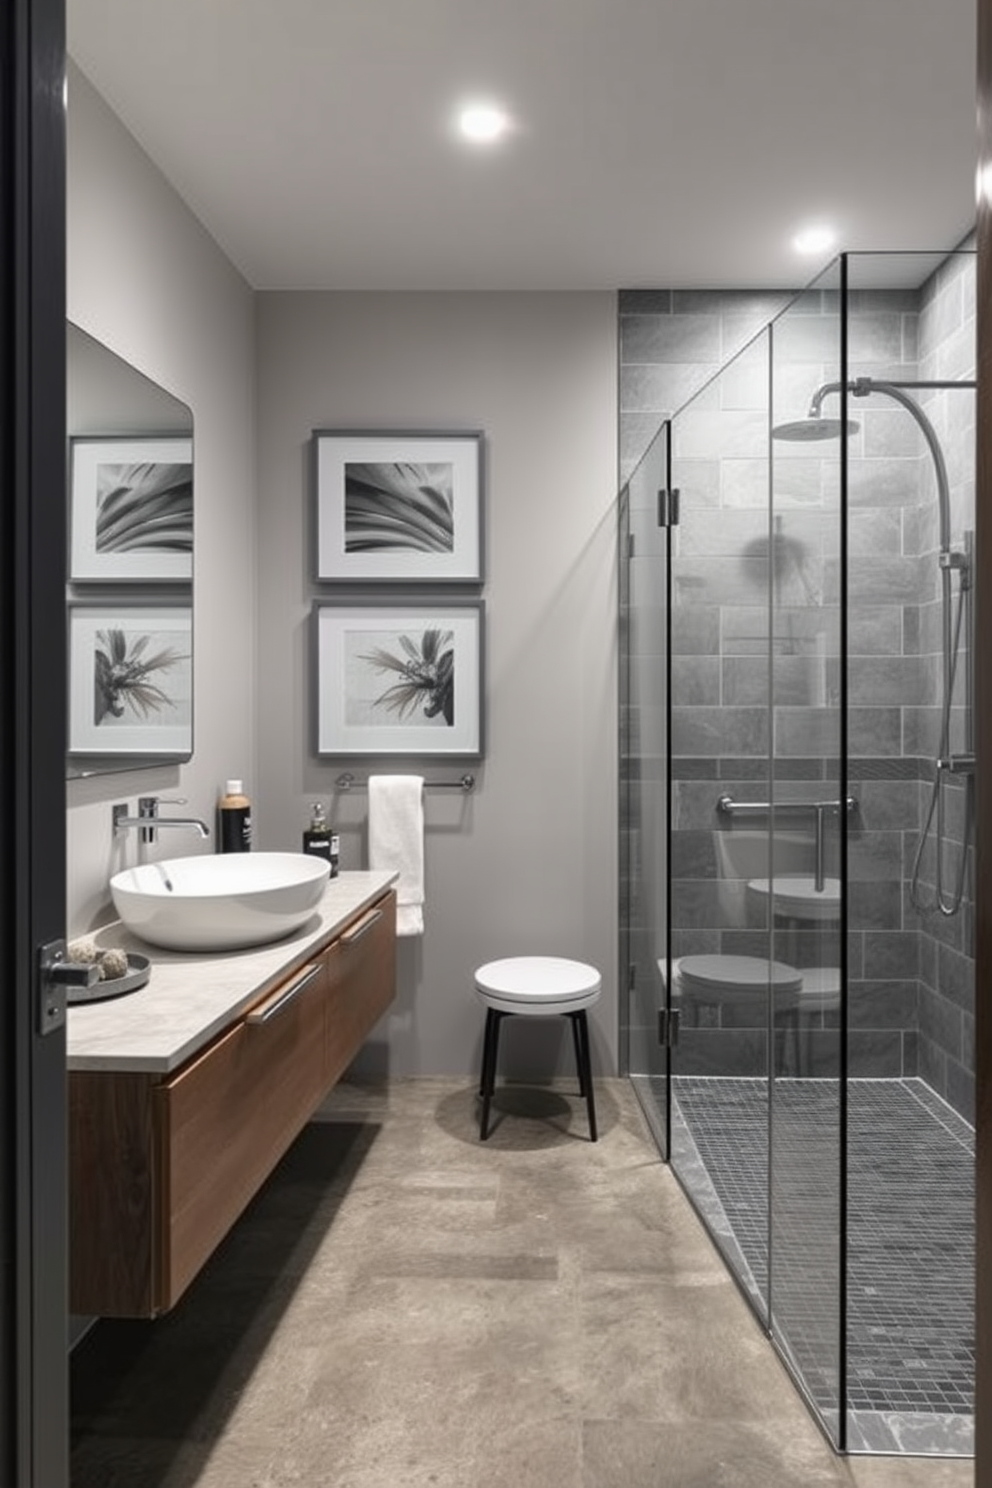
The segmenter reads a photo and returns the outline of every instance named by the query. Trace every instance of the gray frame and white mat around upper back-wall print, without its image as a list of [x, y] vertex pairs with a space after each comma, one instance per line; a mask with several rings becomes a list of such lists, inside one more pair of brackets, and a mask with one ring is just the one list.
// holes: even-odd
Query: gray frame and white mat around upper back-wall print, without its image
[[[317, 577], [355, 580], [479, 580], [482, 498], [477, 434], [317, 436]], [[345, 469], [350, 464], [449, 464], [454, 487], [454, 549], [449, 554], [347, 552]]]

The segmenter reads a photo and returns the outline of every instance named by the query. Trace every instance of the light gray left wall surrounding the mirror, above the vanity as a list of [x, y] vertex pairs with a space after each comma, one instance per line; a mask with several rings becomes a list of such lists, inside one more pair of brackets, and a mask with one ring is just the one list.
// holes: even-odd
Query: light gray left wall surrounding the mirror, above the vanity
[[[68, 86], [68, 315], [193, 409], [195, 754], [68, 786], [68, 929], [110, 915], [110, 804], [187, 796], [213, 820], [228, 775], [254, 777], [253, 295], [86, 77]], [[174, 808], [173, 808], [174, 809]], [[187, 844], [162, 838], [161, 853]], [[189, 848], [195, 838], [189, 838]]]

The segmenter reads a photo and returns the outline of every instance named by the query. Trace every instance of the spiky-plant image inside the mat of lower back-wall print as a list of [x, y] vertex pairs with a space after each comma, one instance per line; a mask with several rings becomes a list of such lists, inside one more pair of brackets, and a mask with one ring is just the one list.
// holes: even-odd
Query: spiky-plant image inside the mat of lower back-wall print
[[455, 722], [455, 637], [427, 628], [416, 634], [350, 631], [345, 640], [345, 716], [350, 725]]

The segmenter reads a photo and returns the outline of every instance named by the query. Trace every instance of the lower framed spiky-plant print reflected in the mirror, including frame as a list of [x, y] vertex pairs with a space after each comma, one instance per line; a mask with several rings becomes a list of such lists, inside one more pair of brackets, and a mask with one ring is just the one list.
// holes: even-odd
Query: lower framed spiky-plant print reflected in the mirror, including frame
[[70, 604], [70, 753], [189, 757], [192, 641], [187, 604]]

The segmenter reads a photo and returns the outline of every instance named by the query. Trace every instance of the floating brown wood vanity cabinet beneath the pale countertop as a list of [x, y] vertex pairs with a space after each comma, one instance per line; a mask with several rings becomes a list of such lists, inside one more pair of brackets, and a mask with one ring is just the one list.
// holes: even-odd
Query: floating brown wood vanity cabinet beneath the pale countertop
[[174, 1074], [70, 1074], [70, 1306], [171, 1308], [396, 995], [396, 894]]

